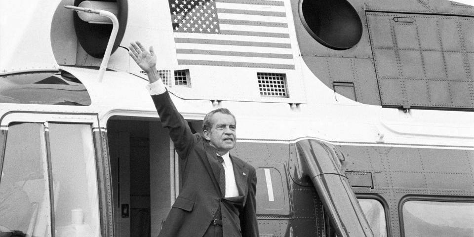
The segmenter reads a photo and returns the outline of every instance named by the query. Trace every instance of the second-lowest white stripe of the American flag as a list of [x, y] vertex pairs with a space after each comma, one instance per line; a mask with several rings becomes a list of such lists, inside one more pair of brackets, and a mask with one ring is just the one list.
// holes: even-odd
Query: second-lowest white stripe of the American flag
[[204, 43], [176, 43], [176, 49], [199, 49], [199, 50], [219, 50], [219, 51], [240, 51], [240, 52], [254, 52], [254, 53], [280, 53], [292, 54], [291, 48], [272, 48], [272, 47], [249, 47], [226, 44], [204, 44]]

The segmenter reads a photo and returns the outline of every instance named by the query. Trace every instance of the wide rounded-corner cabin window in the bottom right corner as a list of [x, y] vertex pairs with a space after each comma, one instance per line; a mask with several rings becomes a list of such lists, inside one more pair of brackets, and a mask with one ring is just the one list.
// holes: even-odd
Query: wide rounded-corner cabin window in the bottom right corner
[[405, 237], [474, 236], [474, 202], [409, 200], [402, 212]]

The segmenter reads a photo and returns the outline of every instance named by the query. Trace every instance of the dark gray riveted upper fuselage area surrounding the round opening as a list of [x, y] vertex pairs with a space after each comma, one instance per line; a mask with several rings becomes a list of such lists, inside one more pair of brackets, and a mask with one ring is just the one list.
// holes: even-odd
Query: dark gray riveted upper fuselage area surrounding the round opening
[[356, 95], [345, 95], [370, 105], [474, 110], [473, 6], [448, 0], [349, 0], [361, 19], [362, 36], [353, 47], [334, 50], [305, 29], [304, 1], [291, 1], [301, 55], [329, 88], [352, 82]]

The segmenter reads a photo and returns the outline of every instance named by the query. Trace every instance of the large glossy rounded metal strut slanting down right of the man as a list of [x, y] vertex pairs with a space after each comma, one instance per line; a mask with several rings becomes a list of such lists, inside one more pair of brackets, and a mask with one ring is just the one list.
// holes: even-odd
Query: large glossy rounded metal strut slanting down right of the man
[[335, 147], [315, 139], [298, 141], [296, 146], [304, 174], [313, 181], [337, 236], [374, 236], [342, 172], [344, 159]]

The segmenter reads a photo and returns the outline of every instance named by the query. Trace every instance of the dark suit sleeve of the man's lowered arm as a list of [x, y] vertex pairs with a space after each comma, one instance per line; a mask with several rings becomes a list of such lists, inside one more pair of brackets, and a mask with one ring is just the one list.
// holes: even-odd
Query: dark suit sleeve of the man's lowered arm
[[249, 176], [248, 195], [245, 201], [245, 206], [240, 212], [240, 228], [242, 231], [242, 237], [259, 237], [258, 234], [258, 221], [257, 221], [257, 203], [256, 203], [256, 185], [257, 175], [255, 169], [252, 169], [251, 175]]

